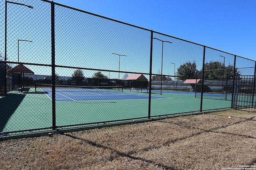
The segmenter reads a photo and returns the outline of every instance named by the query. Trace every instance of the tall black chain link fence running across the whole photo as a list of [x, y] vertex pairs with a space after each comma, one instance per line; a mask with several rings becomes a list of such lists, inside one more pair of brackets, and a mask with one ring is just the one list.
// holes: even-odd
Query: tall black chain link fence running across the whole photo
[[0, 4], [1, 139], [234, 108], [237, 75], [255, 75], [255, 61], [47, 0]]

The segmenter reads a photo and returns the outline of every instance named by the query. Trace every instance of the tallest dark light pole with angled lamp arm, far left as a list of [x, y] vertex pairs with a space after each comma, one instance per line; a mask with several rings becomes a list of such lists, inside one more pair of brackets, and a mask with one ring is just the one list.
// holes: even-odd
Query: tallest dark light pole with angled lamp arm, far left
[[[7, 61], [7, 3], [10, 4], [16, 4], [16, 5], [21, 5], [21, 6], [26, 6], [28, 8], [33, 9], [33, 6], [26, 5], [26, 4], [20, 4], [17, 2], [10, 2], [10, 1], [5, 1], [5, 43], [4, 43], [4, 61]], [[4, 78], [4, 95], [7, 95], [7, 66], [6, 63], [4, 64], [4, 72], [5, 72], [5, 78]]]

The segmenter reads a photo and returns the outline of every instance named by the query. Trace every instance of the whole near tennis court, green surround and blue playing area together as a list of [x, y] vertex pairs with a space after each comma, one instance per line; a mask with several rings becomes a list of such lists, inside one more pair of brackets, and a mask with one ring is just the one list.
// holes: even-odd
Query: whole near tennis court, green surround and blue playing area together
[[[155, 91], [157, 92], [157, 91]], [[104, 122], [126, 122], [148, 119], [149, 94], [129, 89], [56, 88], [56, 127], [69, 129], [101, 125]], [[151, 94], [150, 116], [179, 115], [200, 112], [200, 98], [194, 93], [163, 92]], [[203, 99], [203, 110], [228, 108], [231, 101]], [[14, 102], [15, 101], [15, 102]], [[27, 88], [10, 91], [0, 98], [3, 119], [1, 132], [52, 128], [52, 89]], [[17, 132], [22, 134], [24, 132]], [[14, 134], [14, 133], [13, 133]]]

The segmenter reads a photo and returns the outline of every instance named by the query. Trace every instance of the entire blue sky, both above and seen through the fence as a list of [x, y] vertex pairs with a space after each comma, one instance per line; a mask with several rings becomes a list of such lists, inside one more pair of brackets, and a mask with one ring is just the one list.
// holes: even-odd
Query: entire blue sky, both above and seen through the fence
[[[20, 62], [51, 64], [50, 3], [40, 0], [13, 0], [34, 6], [8, 4], [7, 57], [17, 62], [17, 40], [20, 42]], [[136, 25], [158, 33], [191, 41], [225, 51], [240, 57], [256, 60], [256, 0], [54, 0], [54, 2], [93, 14]], [[0, 2], [4, 4], [3, 2]], [[3, 6], [2, 6], [2, 10]], [[90, 69], [149, 73], [150, 31], [102, 20], [76, 10], [55, 6], [56, 64]], [[4, 12], [1, 13], [4, 18]], [[4, 19], [3, 19], [4, 20]], [[0, 25], [4, 30], [4, 22]], [[172, 43], [153, 40], [152, 73], [173, 76], [177, 68], [195, 61], [202, 69], [202, 46], [154, 33], [154, 37]], [[0, 39], [4, 41], [4, 32]], [[4, 51], [4, 43], [1, 44]], [[206, 61], [234, 63], [234, 56], [206, 50]], [[171, 64], [171, 63], [175, 63]], [[237, 59], [237, 68], [253, 67], [254, 62]], [[35, 74], [49, 75], [50, 67], [28, 66]], [[71, 76], [75, 69], [56, 68], [60, 76]], [[84, 70], [91, 77], [97, 70]], [[118, 78], [117, 72], [103, 72]], [[246, 68], [243, 74], [253, 74]], [[131, 73], [130, 73], [131, 74]], [[120, 74], [120, 78], [124, 73]]]

